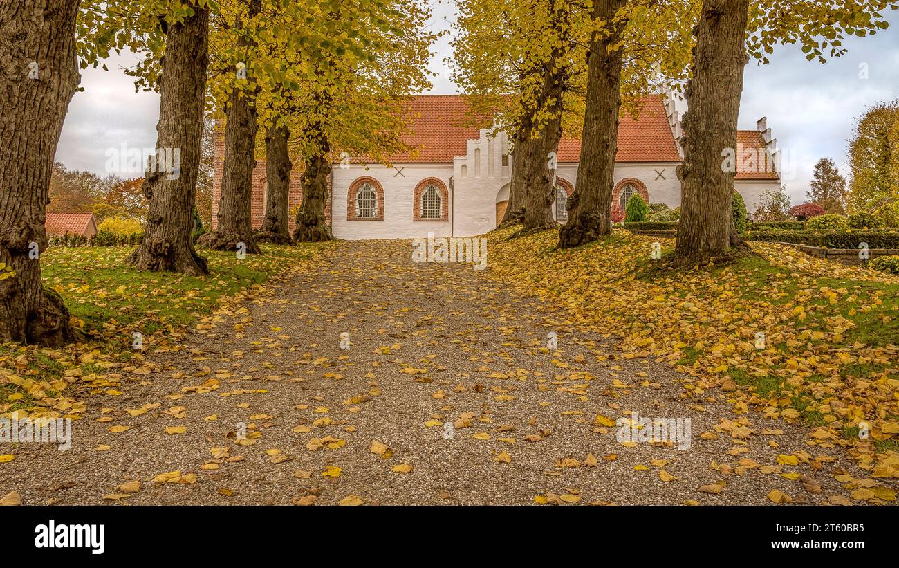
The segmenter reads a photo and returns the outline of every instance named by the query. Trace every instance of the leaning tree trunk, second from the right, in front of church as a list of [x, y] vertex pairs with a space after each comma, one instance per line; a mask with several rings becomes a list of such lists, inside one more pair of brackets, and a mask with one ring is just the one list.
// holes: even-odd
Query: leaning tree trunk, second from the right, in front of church
[[592, 243], [600, 235], [612, 232], [612, 190], [615, 184], [615, 155], [618, 153], [619, 111], [621, 109], [620, 47], [618, 43], [626, 22], [612, 23], [624, 0], [599, 0], [593, 18], [610, 22], [610, 35], [593, 37], [587, 75], [586, 111], [583, 116], [581, 163], [577, 170], [576, 190], [568, 200], [568, 222], [559, 229], [559, 246], [571, 248]]

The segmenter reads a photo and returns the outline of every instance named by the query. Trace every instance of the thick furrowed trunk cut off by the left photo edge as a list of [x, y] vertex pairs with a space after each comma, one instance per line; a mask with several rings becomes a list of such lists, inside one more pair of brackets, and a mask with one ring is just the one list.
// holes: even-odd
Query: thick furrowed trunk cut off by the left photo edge
[[50, 171], [78, 83], [79, 0], [0, 3], [0, 342], [75, 341], [62, 298], [40, 282]]

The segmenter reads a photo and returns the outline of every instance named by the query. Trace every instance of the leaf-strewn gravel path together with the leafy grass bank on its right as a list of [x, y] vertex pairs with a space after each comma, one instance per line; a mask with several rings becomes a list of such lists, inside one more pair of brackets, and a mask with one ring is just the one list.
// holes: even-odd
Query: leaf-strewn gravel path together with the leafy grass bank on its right
[[[215, 257], [230, 276], [194, 283], [116, 272], [105, 297], [78, 276], [77, 253], [67, 266], [47, 259], [49, 284], [85, 329], [125, 335], [129, 347], [133, 330], [149, 329], [140, 312], [158, 309], [156, 334], [127, 358], [112, 348], [43, 355], [76, 371], [62, 371], [63, 391], [82, 403], [42, 407], [80, 418], [73, 448], [0, 444], [0, 495], [895, 502], [899, 280], [773, 244], [736, 266], [659, 277], [649, 239], [617, 233], [559, 252], [551, 233], [510, 235], [492, 235], [483, 272], [415, 264], [408, 241], [353, 242], [269, 249], [245, 264]], [[111, 249], [106, 265], [125, 253]], [[144, 296], [116, 296], [122, 285]], [[92, 316], [93, 302], [108, 315]], [[175, 312], [193, 333], [168, 329]], [[40, 382], [49, 362], [15, 358], [43, 351], [13, 351], [4, 376], [36, 370]], [[44, 400], [16, 391], [31, 393], [32, 408]], [[26, 406], [3, 404], [5, 415]], [[690, 418], [690, 448], [619, 443], [615, 422], [631, 413]]]

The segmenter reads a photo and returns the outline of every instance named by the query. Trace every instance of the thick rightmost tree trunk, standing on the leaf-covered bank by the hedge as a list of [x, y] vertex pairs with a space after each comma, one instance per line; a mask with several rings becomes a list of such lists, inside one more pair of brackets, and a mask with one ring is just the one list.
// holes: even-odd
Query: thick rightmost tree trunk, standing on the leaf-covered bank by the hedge
[[[734, 230], [737, 119], [743, 93], [749, 0], [705, 0], [694, 31], [693, 73], [683, 117], [681, 220], [675, 253], [704, 260], [740, 244]], [[733, 159], [728, 160], [728, 155]]]

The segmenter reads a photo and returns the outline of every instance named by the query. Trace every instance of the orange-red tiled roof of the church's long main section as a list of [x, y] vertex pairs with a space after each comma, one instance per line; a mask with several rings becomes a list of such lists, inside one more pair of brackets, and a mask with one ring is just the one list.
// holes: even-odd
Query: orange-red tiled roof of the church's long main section
[[[394, 163], [451, 163], [453, 157], [466, 154], [466, 142], [478, 138], [478, 129], [465, 126], [468, 104], [463, 95], [417, 95], [411, 97], [411, 124], [404, 138], [418, 149], [418, 155], [391, 156]], [[559, 162], [578, 162], [581, 141], [563, 138], [559, 144]], [[661, 96], [645, 97], [637, 118], [622, 113], [619, 124], [617, 162], [680, 162], [668, 116]]]

